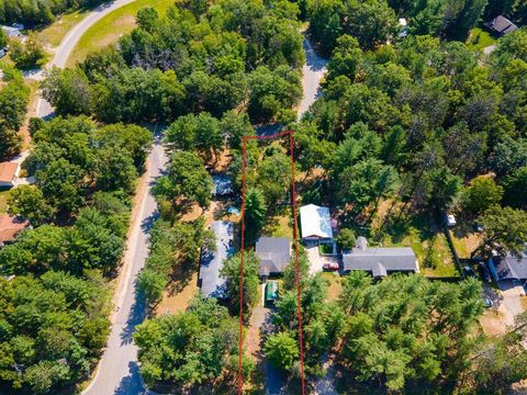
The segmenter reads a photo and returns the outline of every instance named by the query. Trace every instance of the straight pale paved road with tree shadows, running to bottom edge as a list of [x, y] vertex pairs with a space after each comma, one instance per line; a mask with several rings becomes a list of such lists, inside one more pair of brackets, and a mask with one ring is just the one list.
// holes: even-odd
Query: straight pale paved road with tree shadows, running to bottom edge
[[114, 324], [108, 346], [91, 385], [83, 395], [135, 395], [144, 394], [137, 365], [137, 348], [132, 341], [136, 325], [145, 318], [146, 306], [136, 295], [135, 278], [148, 256], [148, 232], [157, 216], [157, 204], [150, 194], [150, 188], [160, 176], [167, 158], [161, 146], [160, 136], [148, 157], [148, 187], [146, 188], [133, 222], [127, 251], [125, 255], [125, 273], [121, 281], [122, 289], [116, 290], [115, 306], [120, 306], [114, 316]]

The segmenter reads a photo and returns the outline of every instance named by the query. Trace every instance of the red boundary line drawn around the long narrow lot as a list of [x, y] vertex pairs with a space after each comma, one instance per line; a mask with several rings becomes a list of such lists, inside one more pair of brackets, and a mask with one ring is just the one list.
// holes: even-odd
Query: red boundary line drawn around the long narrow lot
[[289, 136], [289, 149], [291, 157], [291, 206], [293, 211], [294, 227], [293, 239], [295, 250], [295, 272], [296, 272], [296, 298], [298, 298], [298, 318], [299, 318], [299, 346], [300, 346], [300, 379], [302, 395], [305, 395], [304, 377], [304, 345], [302, 336], [302, 290], [300, 283], [300, 259], [299, 259], [299, 225], [296, 218], [296, 192], [294, 188], [294, 155], [293, 155], [293, 132], [287, 131], [267, 136], [244, 136], [242, 139], [242, 242], [240, 242], [240, 264], [239, 264], [239, 334], [238, 334], [238, 394], [243, 393], [244, 377], [242, 372], [242, 352], [243, 352], [243, 330], [244, 330], [244, 256], [245, 256], [245, 192], [246, 192], [246, 170], [247, 170], [247, 140], [266, 140]]

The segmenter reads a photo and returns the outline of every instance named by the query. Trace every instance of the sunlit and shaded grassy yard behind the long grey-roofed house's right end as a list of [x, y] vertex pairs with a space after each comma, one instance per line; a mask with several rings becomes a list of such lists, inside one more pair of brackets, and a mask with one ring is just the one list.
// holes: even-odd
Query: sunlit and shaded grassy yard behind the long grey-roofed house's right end
[[[456, 247], [461, 248], [463, 242], [455, 240], [456, 242], [459, 244]], [[421, 272], [425, 275], [459, 275], [447, 238], [429, 214], [418, 214], [388, 224], [382, 244], [385, 247], [412, 247], [419, 261]], [[466, 251], [464, 244], [463, 248]]]

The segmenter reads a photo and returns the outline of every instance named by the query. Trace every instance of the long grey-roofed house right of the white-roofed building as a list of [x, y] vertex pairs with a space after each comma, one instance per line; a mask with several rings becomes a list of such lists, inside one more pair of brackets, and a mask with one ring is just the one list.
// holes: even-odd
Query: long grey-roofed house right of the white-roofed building
[[344, 271], [365, 270], [374, 278], [393, 272], [418, 272], [419, 264], [411, 247], [368, 247], [366, 237], [358, 237], [351, 252], [343, 255]]

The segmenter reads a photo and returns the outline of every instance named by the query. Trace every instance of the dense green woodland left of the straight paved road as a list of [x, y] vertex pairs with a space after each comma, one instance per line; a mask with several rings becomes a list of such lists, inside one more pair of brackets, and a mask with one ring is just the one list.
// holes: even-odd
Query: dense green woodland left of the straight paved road
[[33, 228], [0, 250], [0, 381], [46, 394], [86, 380], [105, 345], [106, 281], [152, 133], [83, 117], [33, 120], [31, 132], [36, 183], [13, 189], [8, 211]]

